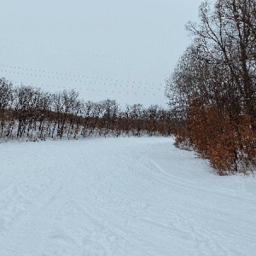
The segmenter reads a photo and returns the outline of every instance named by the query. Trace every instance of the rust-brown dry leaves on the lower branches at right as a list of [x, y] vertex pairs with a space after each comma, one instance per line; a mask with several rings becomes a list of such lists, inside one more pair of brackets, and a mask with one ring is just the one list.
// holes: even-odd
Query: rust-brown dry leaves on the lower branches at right
[[190, 103], [185, 127], [177, 131], [176, 144], [190, 143], [207, 158], [219, 175], [247, 172], [256, 166], [256, 120], [245, 114], [220, 113], [200, 100]]

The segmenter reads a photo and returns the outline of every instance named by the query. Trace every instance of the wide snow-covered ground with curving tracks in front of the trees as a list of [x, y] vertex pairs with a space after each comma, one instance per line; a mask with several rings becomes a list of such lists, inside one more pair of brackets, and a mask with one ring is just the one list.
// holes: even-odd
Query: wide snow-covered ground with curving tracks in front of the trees
[[256, 182], [170, 138], [0, 144], [0, 255], [253, 255]]

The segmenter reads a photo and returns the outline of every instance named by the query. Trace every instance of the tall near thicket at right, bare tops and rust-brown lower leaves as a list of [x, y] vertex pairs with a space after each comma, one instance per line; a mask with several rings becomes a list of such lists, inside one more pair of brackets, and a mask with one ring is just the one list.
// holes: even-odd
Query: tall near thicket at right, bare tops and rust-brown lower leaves
[[189, 144], [220, 174], [256, 165], [256, 2], [207, 1], [200, 23], [187, 26], [193, 44], [167, 80], [166, 94]]

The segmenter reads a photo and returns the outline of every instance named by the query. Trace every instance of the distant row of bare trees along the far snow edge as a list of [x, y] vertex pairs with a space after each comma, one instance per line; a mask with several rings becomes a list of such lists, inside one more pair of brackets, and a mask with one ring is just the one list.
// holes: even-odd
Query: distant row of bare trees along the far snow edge
[[170, 136], [177, 129], [171, 111], [140, 104], [84, 102], [74, 90], [50, 94], [0, 79], [0, 140], [98, 136]]

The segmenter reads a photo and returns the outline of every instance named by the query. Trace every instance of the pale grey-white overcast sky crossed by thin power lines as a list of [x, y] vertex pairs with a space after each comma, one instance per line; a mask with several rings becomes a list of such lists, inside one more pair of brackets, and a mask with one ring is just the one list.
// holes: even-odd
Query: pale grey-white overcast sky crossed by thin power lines
[[75, 88], [85, 100], [165, 107], [164, 79], [189, 45], [184, 25], [200, 3], [0, 0], [0, 77]]

